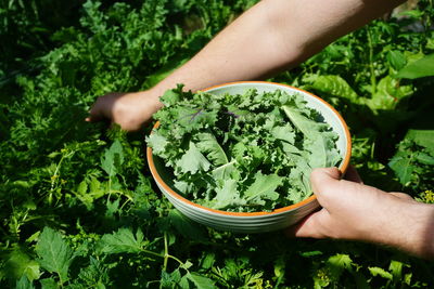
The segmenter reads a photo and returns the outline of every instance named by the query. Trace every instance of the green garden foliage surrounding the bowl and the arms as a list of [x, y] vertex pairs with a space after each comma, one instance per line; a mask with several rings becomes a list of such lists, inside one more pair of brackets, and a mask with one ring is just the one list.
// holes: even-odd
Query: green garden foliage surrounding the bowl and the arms
[[[99, 95], [152, 87], [254, 2], [0, 1], [1, 287], [433, 285], [431, 262], [393, 249], [191, 223], [151, 180], [149, 128], [84, 121]], [[433, 15], [422, 0], [272, 79], [343, 114], [367, 184], [431, 203]]]

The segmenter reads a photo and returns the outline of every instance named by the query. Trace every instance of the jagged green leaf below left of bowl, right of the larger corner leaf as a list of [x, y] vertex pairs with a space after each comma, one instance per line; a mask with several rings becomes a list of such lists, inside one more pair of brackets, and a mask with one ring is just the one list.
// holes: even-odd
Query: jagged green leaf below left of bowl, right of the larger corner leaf
[[141, 252], [145, 241], [140, 229], [136, 236], [130, 228], [119, 228], [113, 234], [105, 234], [97, 244], [97, 250], [105, 254]]

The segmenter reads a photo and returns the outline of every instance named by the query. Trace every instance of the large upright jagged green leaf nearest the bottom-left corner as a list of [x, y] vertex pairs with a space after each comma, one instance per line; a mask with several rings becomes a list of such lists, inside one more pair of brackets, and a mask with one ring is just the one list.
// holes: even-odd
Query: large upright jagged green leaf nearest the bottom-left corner
[[50, 273], [56, 273], [62, 284], [68, 279], [73, 250], [59, 232], [44, 227], [36, 245], [36, 252], [40, 258], [38, 262], [41, 267]]

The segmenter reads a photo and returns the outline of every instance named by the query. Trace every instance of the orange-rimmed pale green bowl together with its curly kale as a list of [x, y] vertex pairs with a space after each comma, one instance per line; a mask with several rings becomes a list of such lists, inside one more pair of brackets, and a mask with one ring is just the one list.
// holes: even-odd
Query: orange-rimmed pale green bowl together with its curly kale
[[231, 82], [167, 91], [146, 136], [151, 173], [188, 218], [217, 229], [259, 233], [319, 208], [315, 168], [345, 173], [352, 144], [340, 114], [286, 84]]

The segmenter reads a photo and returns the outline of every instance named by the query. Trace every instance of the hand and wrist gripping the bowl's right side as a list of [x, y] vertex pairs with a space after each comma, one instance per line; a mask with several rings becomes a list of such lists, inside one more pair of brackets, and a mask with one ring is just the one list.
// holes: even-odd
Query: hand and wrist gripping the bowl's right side
[[288, 235], [379, 242], [433, 255], [433, 206], [340, 176], [336, 168], [314, 170], [310, 180], [322, 209], [289, 228]]

